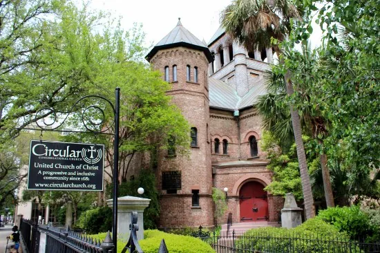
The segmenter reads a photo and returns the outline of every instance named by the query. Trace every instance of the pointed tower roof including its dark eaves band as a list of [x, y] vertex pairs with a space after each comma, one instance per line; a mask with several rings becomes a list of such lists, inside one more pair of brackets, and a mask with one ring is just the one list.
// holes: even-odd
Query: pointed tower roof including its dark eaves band
[[155, 53], [158, 52], [158, 50], [175, 48], [178, 46], [201, 50], [205, 53], [209, 62], [212, 62], [213, 60], [213, 57], [207, 45], [204, 42], [200, 41], [200, 39], [194, 36], [191, 32], [189, 32], [189, 30], [184, 28], [181, 24], [180, 18], [178, 19], [177, 26], [175, 26], [175, 28], [173, 28], [173, 30], [171, 30], [167, 36], [161, 39], [160, 42], [154, 46], [154, 48], [151, 50], [151, 52], [148, 53], [148, 55], [146, 55], [145, 58], [150, 61]]

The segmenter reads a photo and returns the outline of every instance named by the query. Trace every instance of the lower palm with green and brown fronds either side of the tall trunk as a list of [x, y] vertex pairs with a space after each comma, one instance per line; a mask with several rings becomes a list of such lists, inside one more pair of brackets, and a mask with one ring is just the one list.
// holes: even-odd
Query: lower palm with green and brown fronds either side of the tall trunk
[[[314, 68], [314, 62], [318, 60], [317, 50], [311, 50], [310, 44], [302, 44], [301, 52], [298, 50], [285, 50], [283, 55], [288, 61], [297, 62], [298, 67], [294, 74], [301, 75], [304, 79], [310, 79]], [[267, 131], [271, 131], [278, 140], [281, 140], [282, 146], [292, 143], [293, 129], [291, 126], [292, 120], [289, 115], [289, 100], [285, 92], [285, 82], [283, 73], [287, 69], [281, 66], [273, 66], [272, 71], [267, 73], [267, 89], [268, 94], [259, 97], [258, 111], [263, 115], [263, 123]], [[300, 113], [301, 123], [303, 126], [303, 133], [314, 138], [321, 146], [323, 140], [328, 135], [327, 127], [328, 120], [323, 117], [319, 106], [312, 106], [309, 104], [310, 89], [309, 86], [312, 82], [303, 82], [302, 85], [296, 84], [299, 79], [298, 76], [292, 78], [292, 82], [297, 87], [296, 95], [298, 98], [298, 109]], [[295, 100], [295, 99], [293, 99]], [[296, 100], [297, 101], [297, 100]], [[327, 207], [334, 207], [334, 196], [332, 194], [332, 186], [330, 182], [330, 171], [327, 167], [327, 156], [323, 150], [320, 150], [321, 159], [321, 175], [323, 178], [324, 196]]]

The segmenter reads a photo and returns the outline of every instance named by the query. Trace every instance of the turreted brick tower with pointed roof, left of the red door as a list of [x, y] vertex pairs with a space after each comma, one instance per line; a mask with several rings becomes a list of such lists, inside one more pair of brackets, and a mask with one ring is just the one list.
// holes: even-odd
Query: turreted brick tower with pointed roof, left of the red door
[[158, 159], [160, 227], [212, 226], [207, 71], [213, 57], [207, 45], [178, 20], [177, 26], [158, 42], [146, 59], [172, 84], [167, 95], [172, 96], [172, 102], [191, 126], [190, 157], [169, 149], [162, 151]]

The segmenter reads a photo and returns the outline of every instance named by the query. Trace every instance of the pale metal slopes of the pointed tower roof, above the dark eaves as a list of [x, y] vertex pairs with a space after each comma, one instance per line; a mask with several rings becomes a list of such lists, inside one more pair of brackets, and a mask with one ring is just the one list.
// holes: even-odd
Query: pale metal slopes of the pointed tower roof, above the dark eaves
[[202, 46], [207, 48], [207, 45], [194, 36], [189, 30], [184, 28], [181, 21], [178, 20], [177, 26], [167, 36], [158, 42], [155, 46], [164, 46], [169, 44], [175, 44], [179, 42], [189, 43], [195, 46]]

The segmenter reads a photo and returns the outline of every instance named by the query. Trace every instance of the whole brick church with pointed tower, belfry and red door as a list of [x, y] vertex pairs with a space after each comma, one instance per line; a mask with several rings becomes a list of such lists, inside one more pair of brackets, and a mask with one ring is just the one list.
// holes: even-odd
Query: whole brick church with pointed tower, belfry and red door
[[[190, 157], [160, 153], [160, 227], [214, 225], [212, 187], [226, 191], [233, 223], [277, 221], [283, 198], [264, 191], [272, 172], [260, 151], [263, 130], [254, 103], [266, 93], [272, 48], [247, 52], [219, 28], [208, 44], [177, 26], [146, 55], [171, 83], [191, 129]], [[268, 64], [269, 63], [269, 64]]]

